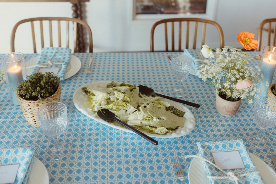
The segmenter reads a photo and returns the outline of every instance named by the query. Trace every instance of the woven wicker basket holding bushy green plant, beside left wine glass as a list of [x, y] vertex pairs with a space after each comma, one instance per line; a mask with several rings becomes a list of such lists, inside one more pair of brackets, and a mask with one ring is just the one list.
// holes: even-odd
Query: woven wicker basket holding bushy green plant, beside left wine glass
[[61, 92], [61, 87], [59, 84], [57, 91], [52, 96], [44, 98], [41, 103], [39, 103], [39, 100], [25, 100], [23, 98], [19, 98], [16, 93], [18, 103], [20, 105], [21, 110], [23, 111], [23, 114], [27, 122], [32, 126], [39, 127], [40, 124], [38, 122], [38, 116], [37, 116], [38, 109], [47, 102], [54, 102], [54, 101], [59, 102], [60, 92]]

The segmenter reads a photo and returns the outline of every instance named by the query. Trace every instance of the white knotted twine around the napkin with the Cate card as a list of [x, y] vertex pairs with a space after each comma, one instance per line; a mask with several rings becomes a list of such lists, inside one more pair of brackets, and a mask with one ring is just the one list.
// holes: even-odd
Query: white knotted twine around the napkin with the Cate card
[[202, 156], [198, 156], [198, 155], [187, 155], [185, 156], [185, 159], [187, 158], [200, 158], [202, 160], [204, 160], [205, 162], [208, 162], [209, 164], [211, 164], [212, 166], [216, 167], [218, 170], [220, 170], [223, 174], [225, 174], [226, 176], [211, 176], [211, 175], [207, 175], [208, 178], [213, 178], [213, 179], [229, 179], [231, 181], [235, 181], [236, 184], [238, 184], [238, 180], [241, 177], [244, 176], [248, 176], [251, 174], [260, 174], [260, 172], [258, 171], [254, 171], [254, 172], [249, 172], [249, 173], [244, 173], [244, 174], [240, 174], [240, 175], [235, 175], [235, 173], [233, 172], [225, 172], [224, 170], [222, 170], [220, 167], [218, 167], [216, 164], [214, 164], [212, 161], [202, 157]]

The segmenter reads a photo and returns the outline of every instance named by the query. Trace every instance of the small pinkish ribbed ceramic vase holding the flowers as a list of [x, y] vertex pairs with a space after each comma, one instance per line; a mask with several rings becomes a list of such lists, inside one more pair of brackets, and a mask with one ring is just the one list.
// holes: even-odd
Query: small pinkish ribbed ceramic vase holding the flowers
[[226, 117], [234, 116], [238, 112], [240, 105], [241, 105], [241, 99], [235, 102], [231, 102], [228, 100], [224, 100], [218, 94], [216, 95], [217, 111], [222, 116], [226, 116]]

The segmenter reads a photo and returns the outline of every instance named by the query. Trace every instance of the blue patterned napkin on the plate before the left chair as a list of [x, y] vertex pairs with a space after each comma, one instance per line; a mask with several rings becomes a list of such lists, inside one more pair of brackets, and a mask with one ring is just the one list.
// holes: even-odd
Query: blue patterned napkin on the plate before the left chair
[[32, 73], [38, 72], [41, 68], [58, 68], [56, 74], [63, 80], [67, 63], [71, 57], [71, 49], [63, 47], [43, 47], [38, 63]]

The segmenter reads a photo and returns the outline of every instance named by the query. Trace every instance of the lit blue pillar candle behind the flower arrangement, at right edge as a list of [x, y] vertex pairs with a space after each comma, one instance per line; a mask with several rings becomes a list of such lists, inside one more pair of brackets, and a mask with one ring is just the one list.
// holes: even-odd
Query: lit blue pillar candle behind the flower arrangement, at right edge
[[262, 66], [261, 66], [261, 73], [264, 75], [264, 78], [261, 78], [262, 84], [264, 84], [264, 89], [266, 90], [266, 94], [268, 92], [268, 87], [266, 87], [266, 81], [269, 83], [269, 86], [272, 83], [272, 78], [274, 75], [276, 67], [276, 60], [271, 58], [271, 55], [269, 57], [262, 59]]

